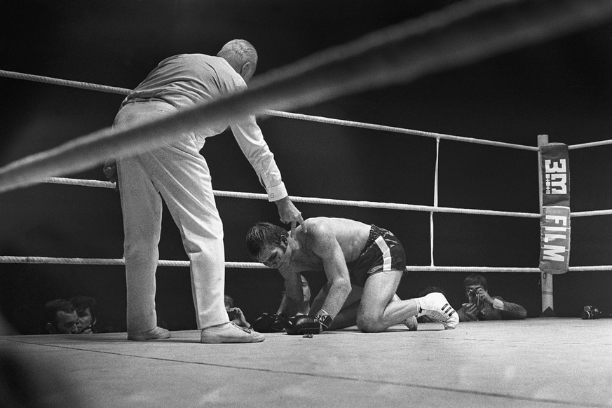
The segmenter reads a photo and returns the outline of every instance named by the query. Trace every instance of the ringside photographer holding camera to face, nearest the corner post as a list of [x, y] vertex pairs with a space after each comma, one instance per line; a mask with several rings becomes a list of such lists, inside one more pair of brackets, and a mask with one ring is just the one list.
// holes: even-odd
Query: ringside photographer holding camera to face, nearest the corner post
[[527, 311], [523, 306], [505, 301], [500, 296], [489, 296], [487, 280], [484, 276], [472, 273], [463, 280], [463, 288], [468, 303], [464, 303], [463, 307], [457, 311], [460, 322], [513, 320], [527, 317]]

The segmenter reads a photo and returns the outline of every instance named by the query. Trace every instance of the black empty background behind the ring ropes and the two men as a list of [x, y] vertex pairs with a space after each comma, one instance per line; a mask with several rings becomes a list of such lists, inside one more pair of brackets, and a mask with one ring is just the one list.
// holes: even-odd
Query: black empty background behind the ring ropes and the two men
[[[134, 88], [178, 53], [209, 53], [234, 38], [259, 52], [257, 74], [375, 29], [461, 7], [465, 1], [20, 1], [1, 17], [0, 69]], [[392, 88], [315, 104], [299, 113], [428, 132], [536, 145], [611, 139], [612, 24], [450, 69]], [[256, 74], [256, 78], [257, 78]], [[0, 78], [0, 165], [111, 125], [121, 95]], [[290, 195], [433, 205], [435, 140], [283, 118], [261, 118]], [[612, 207], [612, 147], [573, 150], [573, 211]], [[217, 190], [264, 192], [231, 133], [207, 140], [203, 154]], [[440, 143], [440, 205], [538, 212], [536, 153]], [[104, 179], [101, 168], [70, 177]], [[257, 220], [276, 222], [263, 200], [218, 198], [226, 260], [250, 261], [244, 236]], [[429, 213], [298, 204], [304, 217], [338, 216], [396, 233], [410, 265], [428, 265]], [[436, 214], [438, 266], [538, 266], [538, 219]], [[572, 220], [571, 266], [610, 265], [611, 217]], [[121, 258], [118, 193], [41, 184], [0, 195], [0, 254]], [[161, 259], [186, 259], [168, 212]], [[400, 297], [429, 285], [463, 301], [467, 273], [409, 273]], [[489, 293], [540, 315], [539, 273], [485, 273]], [[170, 329], [193, 329], [187, 268], [158, 269], [158, 315]], [[325, 281], [308, 272], [315, 293]], [[226, 292], [248, 320], [276, 311], [282, 280], [264, 269], [229, 269]], [[584, 305], [612, 308], [612, 274], [554, 278], [555, 313], [578, 317]], [[0, 308], [18, 331], [38, 332], [43, 304], [95, 297], [100, 326], [125, 330], [123, 266], [0, 264]]]

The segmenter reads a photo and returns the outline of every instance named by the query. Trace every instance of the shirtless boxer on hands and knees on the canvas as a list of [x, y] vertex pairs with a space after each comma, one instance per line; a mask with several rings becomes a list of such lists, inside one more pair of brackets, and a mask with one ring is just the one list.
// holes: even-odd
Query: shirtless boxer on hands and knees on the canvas
[[[306, 219], [295, 233], [258, 222], [247, 233], [250, 256], [285, 279], [284, 310], [293, 316], [304, 299], [300, 273], [322, 269], [327, 285], [308, 316], [285, 325], [290, 334], [317, 333], [357, 325], [362, 332], [383, 332], [404, 323], [416, 328], [416, 316], [428, 315], [454, 329], [458, 315], [441, 293], [400, 300], [395, 291], [406, 267], [404, 248], [386, 229], [344, 218]], [[282, 308], [282, 307], [281, 307]]]

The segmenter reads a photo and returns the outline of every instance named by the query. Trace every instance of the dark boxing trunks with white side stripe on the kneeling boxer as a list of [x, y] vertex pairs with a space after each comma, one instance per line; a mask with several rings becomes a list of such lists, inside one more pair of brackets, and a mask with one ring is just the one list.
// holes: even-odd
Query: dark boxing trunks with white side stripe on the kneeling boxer
[[351, 284], [363, 287], [367, 278], [375, 273], [404, 271], [406, 254], [402, 243], [393, 233], [372, 224], [363, 251], [346, 266], [351, 276]]

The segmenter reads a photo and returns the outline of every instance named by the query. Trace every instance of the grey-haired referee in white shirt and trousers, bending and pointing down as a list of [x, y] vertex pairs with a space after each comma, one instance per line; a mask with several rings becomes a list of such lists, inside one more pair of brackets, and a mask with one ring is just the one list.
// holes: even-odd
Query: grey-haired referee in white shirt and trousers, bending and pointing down
[[[166, 58], [125, 97], [114, 128], [122, 129], [175, 114], [181, 109], [241, 92], [257, 67], [257, 51], [244, 40], [226, 43], [217, 56], [182, 54]], [[162, 200], [179, 227], [191, 264], [191, 289], [203, 343], [250, 343], [264, 336], [229, 322], [224, 305], [223, 225], [208, 164], [200, 149], [207, 137], [230, 127], [286, 223], [303, 222], [287, 196], [280, 171], [254, 116], [238, 123], [193, 129], [153, 151], [104, 164], [118, 182], [123, 212], [128, 339], [166, 339], [157, 327], [155, 273]]]

